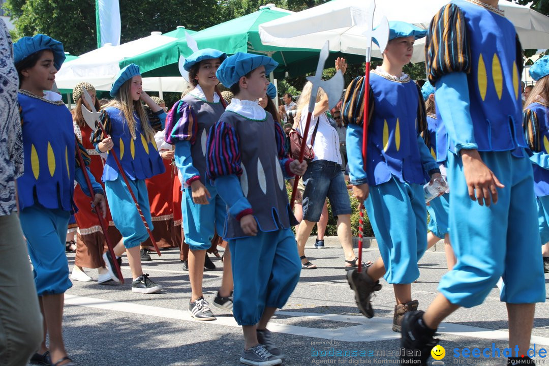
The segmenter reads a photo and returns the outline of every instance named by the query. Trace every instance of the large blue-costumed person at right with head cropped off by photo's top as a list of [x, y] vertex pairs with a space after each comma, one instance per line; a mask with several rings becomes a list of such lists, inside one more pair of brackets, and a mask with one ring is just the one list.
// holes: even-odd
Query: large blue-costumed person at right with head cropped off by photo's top
[[426, 44], [427, 76], [450, 140], [449, 226], [457, 264], [425, 313], [406, 314], [401, 346], [421, 356], [405, 352], [402, 360], [427, 365], [442, 320], [482, 303], [502, 277], [509, 346], [519, 348], [508, 364], [534, 364], [520, 356], [530, 344], [535, 303], [545, 301], [545, 279], [522, 133], [522, 47], [497, 0], [452, 0], [435, 14]]

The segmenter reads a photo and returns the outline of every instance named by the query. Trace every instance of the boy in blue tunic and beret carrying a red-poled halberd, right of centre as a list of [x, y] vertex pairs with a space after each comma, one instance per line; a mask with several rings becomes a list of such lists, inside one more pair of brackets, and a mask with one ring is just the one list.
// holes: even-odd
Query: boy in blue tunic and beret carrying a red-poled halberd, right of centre
[[412, 57], [414, 41], [427, 31], [405, 22], [389, 25], [383, 64], [370, 73], [366, 171], [362, 160], [363, 76], [351, 82], [342, 106], [349, 125], [346, 143], [353, 193], [364, 201], [381, 254], [366, 271], [349, 272], [347, 278], [356, 292], [358, 308], [368, 318], [373, 317], [370, 296], [381, 288], [378, 280], [384, 277], [393, 284], [393, 330], [400, 331], [404, 314], [418, 307], [418, 301], [412, 301], [410, 284], [419, 277], [417, 262], [427, 249], [425, 174], [432, 183], [440, 171], [421, 137], [427, 128], [421, 91], [402, 72]]

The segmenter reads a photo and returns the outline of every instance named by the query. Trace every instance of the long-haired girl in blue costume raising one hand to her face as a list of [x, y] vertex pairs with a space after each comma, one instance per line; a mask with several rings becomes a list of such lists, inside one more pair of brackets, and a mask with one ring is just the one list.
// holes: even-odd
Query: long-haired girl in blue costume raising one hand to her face
[[[92, 136], [92, 143], [100, 153], [111, 149], [116, 151], [130, 183], [130, 187], [127, 187], [113, 154], [109, 154], [105, 161], [102, 180], [105, 182], [105, 192], [114, 224], [124, 240], [123, 245], [115, 247], [115, 254], [121, 256], [124, 251], [127, 253], [132, 271], [132, 291], [152, 294], [161, 291], [162, 286], [151, 280], [148, 274], [143, 274], [139, 246], [149, 238], [149, 234], [128, 189], [131, 189], [137, 198], [148, 226], [153, 230], [145, 179], [165, 171], [154, 142], [154, 130], [161, 131], [164, 128], [166, 112], [143, 91], [139, 66], [135, 64], [127, 65], [119, 71], [110, 90], [110, 96], [114, 97], [114, 100], [103, 107], [100, 116], [108, 136], [103, 136], [101, 129], [97, 127]], [[141, 102], [149, 106], [152, 115], [147, 115]], [[120, 282], [114, 272], [115, 258], [111, 258], [107, 251], [103, 254], [103, 259], [111, 278]]]

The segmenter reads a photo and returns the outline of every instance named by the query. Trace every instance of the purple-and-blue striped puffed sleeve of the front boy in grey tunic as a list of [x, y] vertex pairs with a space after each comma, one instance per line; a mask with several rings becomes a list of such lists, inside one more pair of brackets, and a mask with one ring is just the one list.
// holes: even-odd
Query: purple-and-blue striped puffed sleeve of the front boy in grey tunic
[[210, 128], [206, 147], [206, 172], [210, 179], [242, 174], [238, 143], [238, 134], [232, 125], [219, 121]]

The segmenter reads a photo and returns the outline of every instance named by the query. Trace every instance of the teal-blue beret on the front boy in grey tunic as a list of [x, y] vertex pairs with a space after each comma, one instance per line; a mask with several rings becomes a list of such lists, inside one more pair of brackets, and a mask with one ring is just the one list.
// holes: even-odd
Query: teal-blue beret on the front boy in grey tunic
[[265, 66], [266, 74], [270, 74], [276, 69], [278, 63], [267, 56], [237, 52], [223, 61], [215, 75], [223, 85], [229, 88], [241, 77], [260, 66]]

